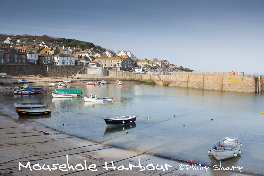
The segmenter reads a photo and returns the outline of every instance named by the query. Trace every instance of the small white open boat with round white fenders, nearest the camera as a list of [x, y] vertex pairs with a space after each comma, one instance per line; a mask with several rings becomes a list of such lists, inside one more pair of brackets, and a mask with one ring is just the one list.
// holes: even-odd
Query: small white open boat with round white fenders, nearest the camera
[[211, 150], [208, 151], [209, 154], [212, 155], [218, 160], [225, 160], [228, 158], [236, 157], [237, 154], [241, 154], [242, 152], [239, 150], [242, 147], [242, 144], [239, 143], [238, 138], [228, 138], [225, 137], [221, 139], [217, 143], [211, 146]]

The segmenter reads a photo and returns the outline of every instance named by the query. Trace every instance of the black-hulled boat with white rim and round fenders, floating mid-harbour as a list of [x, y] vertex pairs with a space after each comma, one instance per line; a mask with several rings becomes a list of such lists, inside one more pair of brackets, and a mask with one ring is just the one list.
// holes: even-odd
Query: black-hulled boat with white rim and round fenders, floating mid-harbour
[[127, 125], [136, 121], [136, 116], [108, 117], [104, 116], [106, 125]]

